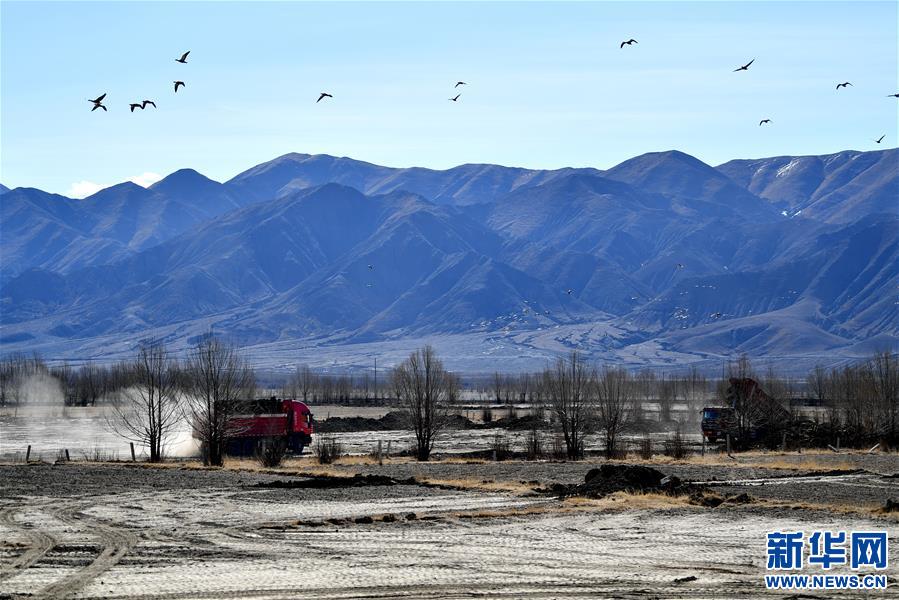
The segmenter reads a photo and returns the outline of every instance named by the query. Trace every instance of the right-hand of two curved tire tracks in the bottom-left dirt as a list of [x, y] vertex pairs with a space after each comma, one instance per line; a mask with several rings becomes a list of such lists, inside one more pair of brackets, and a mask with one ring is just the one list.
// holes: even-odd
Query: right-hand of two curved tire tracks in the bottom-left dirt
[[100, 555], [78, 571], [50, 584], [38, 592], [36, 597], [46, 600], [64, 598], [90, 583], [94, 578], [113, 567], [137, 543], [137, 538], [115, 527], [106, 525], [81, 512], [82, 508], [63, 509], [54, 515], [63, 523], [99, 536], [103, 545]]

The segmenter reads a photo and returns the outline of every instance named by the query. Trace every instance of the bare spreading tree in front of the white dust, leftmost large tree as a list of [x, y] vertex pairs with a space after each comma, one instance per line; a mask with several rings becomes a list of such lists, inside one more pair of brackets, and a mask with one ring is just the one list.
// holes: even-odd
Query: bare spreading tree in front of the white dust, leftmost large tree
[[147, 446], [150, 462], [160, 462], [166, 440], [183, 416], [178, 361], [155, 343], [141, 346], [126, 368], [133, 387], [112, 405], [110, 424], [122, 437]]

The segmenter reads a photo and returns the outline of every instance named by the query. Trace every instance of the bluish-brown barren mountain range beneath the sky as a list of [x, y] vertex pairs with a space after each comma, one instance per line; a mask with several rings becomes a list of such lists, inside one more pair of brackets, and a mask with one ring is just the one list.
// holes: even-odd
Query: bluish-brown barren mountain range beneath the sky
[[0, 194], [0, 354], [111, 360], [212, 329], [272, 368], [432, 341], [490, 371], [570, 349], [832, 364], [899, 341], [896, 149], [605, 171], [287, 154], [224, 183]]

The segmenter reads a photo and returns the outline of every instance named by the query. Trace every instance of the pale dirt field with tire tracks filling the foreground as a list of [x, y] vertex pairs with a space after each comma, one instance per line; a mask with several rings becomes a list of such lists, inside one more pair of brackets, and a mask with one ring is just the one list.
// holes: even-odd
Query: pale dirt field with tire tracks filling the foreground
[[[787, 458], [657, 465], [755, 498], [715, 509], [533, 492], [590, 462], [0, 465], [0, 598], [752, 598], [768, 531], [886, 529], [896, 555], [899, 521], [877, 512], [899, 498], [895, 455]], [[443, 487], [264, 487], [325, 470]]]

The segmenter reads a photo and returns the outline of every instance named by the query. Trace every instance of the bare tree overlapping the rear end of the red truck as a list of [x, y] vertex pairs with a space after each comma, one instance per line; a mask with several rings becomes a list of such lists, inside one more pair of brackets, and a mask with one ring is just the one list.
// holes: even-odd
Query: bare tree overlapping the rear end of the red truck
[[237, 349], [214, 337], [200, 341], [185, 366], [187, 414], [203, 464], [221, 466], [237, 403], [255, 392], [255, 376]]

